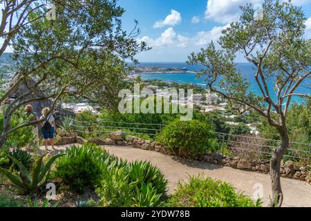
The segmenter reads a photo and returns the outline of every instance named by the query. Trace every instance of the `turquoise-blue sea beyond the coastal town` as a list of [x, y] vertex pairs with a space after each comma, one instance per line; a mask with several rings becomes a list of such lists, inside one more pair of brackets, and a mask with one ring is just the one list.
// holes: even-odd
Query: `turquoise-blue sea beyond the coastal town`
[[[196, 71], [200, 70], [199, 66], [189, 66], [185, 63], [141, 63], [140, 66], [160, 66], [160, 67], [177, 67], [177, 68], [187, 68], [189, 71]], [[246, 63], [240, 63], [238, 64], [238, 68], [241, 70], [241, 73], [243, 74], [243, 77], [245, 77], [250, 82], [249, 90], [252, 90], [253, 93], [256, 95], [261, 95], [261, 91], [258, 88], [258, 85], [256, 84], [256, 80], [254, 77], [255, 70], [251, 64]], [[204, 77], [196, 77], [196, 73], [173, 73], [173, 74], [161, 74], [161, 73], [155, 73], [155, 74], [142, 74], [142, 79], [159, 79], [162, 81], [168, 81], [168, 82], [175, 82], [179, 84], [196, 84], [198, 86], [206, 87], [205, 79]], [[273, 90], [274, 88], [274, 82], [268, 81], [268, 86], [270, 90]], [[310, 88], [311, 80], [308, 79], [305, 81], [301, 87], [296, 90], [296, 93], [311, 93]], [[275, 93], [274, 99], [276, 99]], [[301, 103], [305, 100], [301, 97], [293, 97], [292, 99], [295, 102]]]

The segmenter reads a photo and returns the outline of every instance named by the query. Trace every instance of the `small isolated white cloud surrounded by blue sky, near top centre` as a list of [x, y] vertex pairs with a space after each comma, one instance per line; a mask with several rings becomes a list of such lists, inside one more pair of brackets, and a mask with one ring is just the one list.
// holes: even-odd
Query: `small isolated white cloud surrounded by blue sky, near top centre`
[[152, 39], [148, 36], [144, 36], [141, 39], [137, 40], [138, 42], [144, 41], [148, 46], [153, 48], [163, 47], [163, 46], [178, 46], [181, 48], [185, 48], [188, 43], [188, 38], [182, 35], [177, 35], [173, 28], [167, 28], [164, 32], [162, 32], [161, 36], [157, 39]]

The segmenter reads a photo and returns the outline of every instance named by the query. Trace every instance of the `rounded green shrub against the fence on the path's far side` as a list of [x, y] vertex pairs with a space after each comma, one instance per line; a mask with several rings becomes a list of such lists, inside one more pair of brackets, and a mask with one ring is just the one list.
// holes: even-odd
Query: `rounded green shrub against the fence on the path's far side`
[[189, 122], [177, 119], [167, 125], [156, 140], [175, 153], [181, 149], [184, 153], [196, 156], [217, 150], [217, 140], [210, 131], [213, 131], [213, 127], [209, 124], [195, 119]]

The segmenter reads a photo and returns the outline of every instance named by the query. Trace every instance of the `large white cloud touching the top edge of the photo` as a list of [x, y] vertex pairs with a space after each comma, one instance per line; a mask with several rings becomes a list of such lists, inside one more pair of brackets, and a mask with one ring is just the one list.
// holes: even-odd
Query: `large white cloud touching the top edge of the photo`
[[240, 6], [253, 3], [258, 8], [262, 0], [208, 0], [205, 19], [211, 19], [219, 23], [237, 21], [241, 13]]

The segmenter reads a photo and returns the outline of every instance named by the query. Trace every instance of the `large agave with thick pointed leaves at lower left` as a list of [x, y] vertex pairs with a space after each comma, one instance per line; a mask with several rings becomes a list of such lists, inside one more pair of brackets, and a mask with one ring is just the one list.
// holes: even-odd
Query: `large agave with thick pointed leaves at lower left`
[[[64, 155], [64, 154], [63, 154]], [[26, 169], [19, 160], [15, 159], [15, 157], [8, 156], [12, 162], [19, 166], [19, 177], [10, 173], [10, 171], [0, 168], [0, 172], [6, 175], [8, 179], [23, 193], [32, 193], [38, 191], [38, 189], [46, 182], [46, 175], [50, 171], [50, 167], [57, 160], [58, 157], [62, 157], [62, 155], [56, 155], [52, 157], [45, 165], [44, 165], [44, 156], [39, 158], [37, 162], [35, 162], [34, 169], [32, 171], [32, 175]]]

